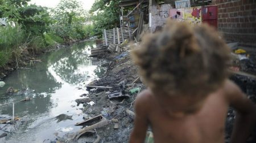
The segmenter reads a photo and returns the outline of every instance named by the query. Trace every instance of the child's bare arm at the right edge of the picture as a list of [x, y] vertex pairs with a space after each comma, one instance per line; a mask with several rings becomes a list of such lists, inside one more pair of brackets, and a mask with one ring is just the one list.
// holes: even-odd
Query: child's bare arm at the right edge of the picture
[[230, 143], [246, 142], [256, 123], [256, 106], [231, 81], [228, 84], [229, 103], [236, 110], [236, 119]]

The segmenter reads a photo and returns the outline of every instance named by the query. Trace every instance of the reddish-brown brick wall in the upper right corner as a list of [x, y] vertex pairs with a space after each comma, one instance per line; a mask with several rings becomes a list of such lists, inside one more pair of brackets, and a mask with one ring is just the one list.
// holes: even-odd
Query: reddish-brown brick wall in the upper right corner
[[256, 0], [213, 0], [218, 6], [218, 30], [227, 41], [256, 47]]

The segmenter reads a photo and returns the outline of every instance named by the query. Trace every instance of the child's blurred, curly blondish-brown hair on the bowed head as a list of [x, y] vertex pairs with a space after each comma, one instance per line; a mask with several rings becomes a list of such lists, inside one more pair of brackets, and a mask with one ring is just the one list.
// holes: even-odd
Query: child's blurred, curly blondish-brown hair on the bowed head
[[155, 94], [207, 96], [229, 75], [229, 47], [208, 25], [170, 20], [161, 32], [144, 36], [131, 55]]

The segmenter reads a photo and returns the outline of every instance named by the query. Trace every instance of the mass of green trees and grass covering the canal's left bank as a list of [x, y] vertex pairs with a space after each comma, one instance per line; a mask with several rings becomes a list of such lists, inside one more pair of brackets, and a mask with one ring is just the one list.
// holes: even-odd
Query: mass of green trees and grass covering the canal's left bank
[[88, 23], [88, 12], [78, 0], [61, 0], [54, 10], [28, 5], [30, 0], [0, 0], [0, 18], [9, 25], [0, 25], [0, 68], [42, 53], [57, 44], [65, 44], [94, 35]]

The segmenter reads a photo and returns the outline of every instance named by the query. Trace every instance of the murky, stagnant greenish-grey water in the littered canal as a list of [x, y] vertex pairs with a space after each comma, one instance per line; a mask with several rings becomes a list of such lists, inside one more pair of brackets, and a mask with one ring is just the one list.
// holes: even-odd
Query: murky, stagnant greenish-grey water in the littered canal
[[[87, 93], [84, 84], [97, 79], [105, 68], [89, 58], [94, 41], [85, 41], [44, 54], [26, 70], [11, 73], [0, 88], [0, 119], [12, 118], [13, 103], [16, 124], [0, 124], [0, 142], [52, 142], [57, 137], [79, 131], [75, 123], [82, 121], [82, 105], [76, 106], [75, 99]], [[101, 62], [100, 62], [101, 63]], [[7, 95], [7, 88], [19, 90], [18, 94]], [[31, 97], [30, 101], [20, 101]], [[73, 120], [58, 123], [60, 114], [72, 115]], [[4, 127], [6, 125], [6, 127]], [[3, 128], [4, 127], [4, 128]]]

